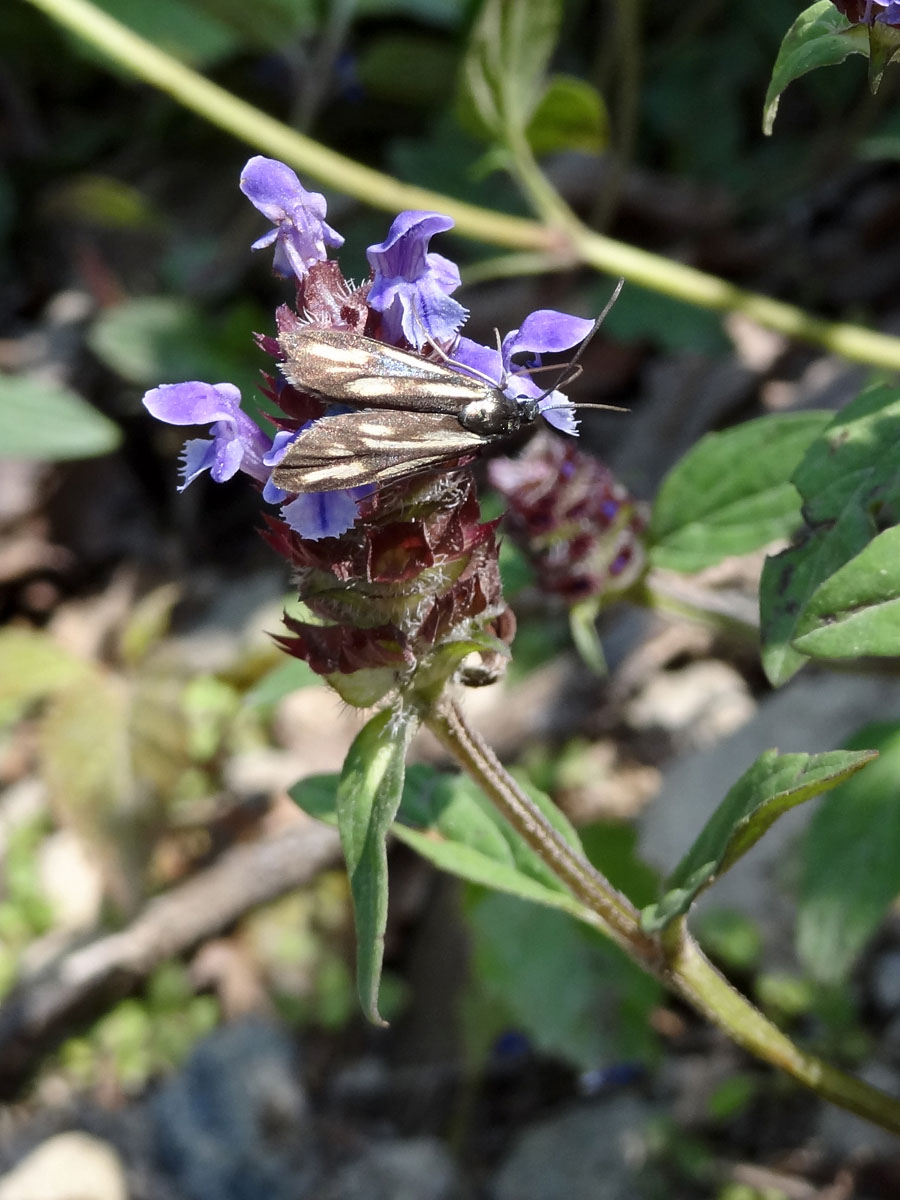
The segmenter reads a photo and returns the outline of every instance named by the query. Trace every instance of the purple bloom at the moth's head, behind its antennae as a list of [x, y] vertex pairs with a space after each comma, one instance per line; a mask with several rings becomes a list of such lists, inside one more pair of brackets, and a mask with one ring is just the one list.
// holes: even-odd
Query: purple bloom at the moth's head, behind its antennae
[[[562, 391], [551, 391], [544, 396], [545, 389], [529, 374], [516, 374], [521, 371], [514, 362], [517, 354], [538, 355], [554, 354], [568, 350], [583, 342], [594, 328], [592, 320], [583, 317], [570, 317], [552, 308], [539, 308], [526, 317], [518, 329], [506, 334], [499, 350], [480, 346], [468, 337], [461, 337], [454, 349], [454, 359], [464, 367], [472, 367], [480, 374], [494, 379], [508, 396], [516, 400], [536, 400], [541, 416], [563, 433], [577, 434], [575, 406]], [[540, 366], [540, 358], [526, 366]], [[560, 368], [562, 370], [562, 368]]]

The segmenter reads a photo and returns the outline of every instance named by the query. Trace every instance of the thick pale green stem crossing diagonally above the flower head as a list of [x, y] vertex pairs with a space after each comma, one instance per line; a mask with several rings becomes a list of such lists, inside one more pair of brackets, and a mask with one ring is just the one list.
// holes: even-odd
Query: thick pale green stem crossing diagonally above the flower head
[[719, 312], [737, 311], [788, 337], [826, 347], [834, 354], [871, 366], [900, 370], [900, 338], [876, 334], [860, 325], [828, 322], [793, 305], [745, 292], [703, 271], [674, 263], [635, 246], [626, 246], [593, 233], [574, 217], [564, 203], [551, 200], [546, 188], [528, 173], [529, 190], [541, 211], [563, 228], [538, 221], [511, 217], [422, 187], [402, 184], [343, 155], [328, 150], [312, 138], [260, 113], [252, 104], [216, 86], [196, 71], [139, 37], [125, 25], [96, 8], [90, 0], [28, 0], [103, 52], [139, 79], [168, 92], [174, 100], [206, 118], [214, 125], [250, 143], [257, 151], [292, 163], [325, 186], [355, 196], [374, 208], [433, 209], [451, 216], [457, 232], [478, 241], [510, 250], [556, 253], [572, 257], [610, 275], [624, 275], [634, 283], [661, 292], [677, 300]]

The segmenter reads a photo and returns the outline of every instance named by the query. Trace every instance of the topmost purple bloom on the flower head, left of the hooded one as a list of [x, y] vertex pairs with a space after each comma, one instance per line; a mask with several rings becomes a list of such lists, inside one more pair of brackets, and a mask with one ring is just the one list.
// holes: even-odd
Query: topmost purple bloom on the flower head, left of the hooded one
[[251, 158], [241, 172], [241, 191], [275, 224], [253, 242], [253, 250], [276, 244], [272, 269], [277, 275], [302, 280], [313, 263], [325, 260], [326, 246], [343, 246], [343, 238], [325, 222], [325, 197], [307, 192], [277, 158]]

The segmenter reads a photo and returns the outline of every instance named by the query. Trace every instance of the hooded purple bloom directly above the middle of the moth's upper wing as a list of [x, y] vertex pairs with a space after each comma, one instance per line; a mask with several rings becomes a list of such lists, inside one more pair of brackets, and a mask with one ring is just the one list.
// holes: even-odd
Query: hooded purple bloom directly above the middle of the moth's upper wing
[[458, 268], [428, 253], [432, 236], [452, 224], [440, 212], [401, 212], [385, 240], [366, 251], [373, 271], [368, 304], [384, 314], [385, 341], [396, 343], [402, 336], [416, 349], [448, 342], [468, 316], [450, 299], [460, 287]]

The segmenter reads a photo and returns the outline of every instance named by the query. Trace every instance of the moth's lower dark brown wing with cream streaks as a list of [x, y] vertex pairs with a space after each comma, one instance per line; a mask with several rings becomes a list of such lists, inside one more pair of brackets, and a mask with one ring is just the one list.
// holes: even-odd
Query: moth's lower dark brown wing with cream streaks
[[464, 430], [455, 416], [437, 413], [323, 416], [290, 445], [272, 472], [272, 482], [286, 492], [389, 484], [478, 454], [491, 440]]

